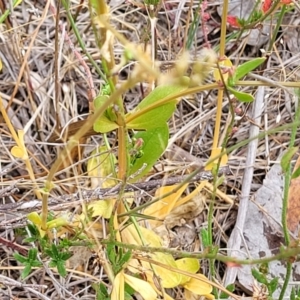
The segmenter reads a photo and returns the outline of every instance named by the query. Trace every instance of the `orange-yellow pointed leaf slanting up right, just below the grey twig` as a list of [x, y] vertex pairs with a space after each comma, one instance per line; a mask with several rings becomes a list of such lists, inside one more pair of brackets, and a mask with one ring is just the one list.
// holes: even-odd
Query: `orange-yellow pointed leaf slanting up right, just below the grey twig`
[[[153, 217], [159, 217], [164, 219], [169, 212], [173, 209], [176, 204], [176, 201], [180, 198], [182, 193], [185, 191], [188, 184], [183, 185], [177, 192], [170, 194], [167, 197], [153, 203], [152, 205], [148, 206], [144, 210], [144, 214]], [[161, 197], [167, 193], [172, 192], [177, 186], [164, 186], [156, 190], [155, 196]], [[153, 227], [157, 227], [162, 222], [156, 220], [149, 220], [148, 221]]]

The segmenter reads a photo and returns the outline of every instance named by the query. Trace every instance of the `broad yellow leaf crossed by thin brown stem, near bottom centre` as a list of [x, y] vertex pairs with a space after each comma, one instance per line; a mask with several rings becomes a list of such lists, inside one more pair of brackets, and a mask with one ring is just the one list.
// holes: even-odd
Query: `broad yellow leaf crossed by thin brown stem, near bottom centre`
[[166, 265], [166, 267], [160, 267], [152, 264], [155, 274], [161, 279], [164, 288], [173, 288], [180, 284], [182, 275], [167, 269], [167, 266], [177, 269], [175, 259], [172, 255], [156, 252], [152, 255], [152, 259]]

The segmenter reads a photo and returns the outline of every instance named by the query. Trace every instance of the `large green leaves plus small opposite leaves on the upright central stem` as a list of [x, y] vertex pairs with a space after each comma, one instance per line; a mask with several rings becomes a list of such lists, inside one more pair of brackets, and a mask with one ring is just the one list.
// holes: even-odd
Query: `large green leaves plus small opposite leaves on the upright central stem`
[[[176, 98], [187, 89], [183, 85], [158, 86], [130, 113], [125, 116], [127, 129], [140, 131], [133, 139], [142, 141], [139, 157], [132, 159], [129, 175], [131, 181], [137, 181], [147, 174], [168, 145], [169, 128], [167, 121], [176, 109]], [[95, 99], [95, 108], [99, 109], [108, 96]], [[118, 129], [116, 107], [110, 107], [94, 124], [94, 130], [101, 133]], [[123, 126], [123, 124], [122, 124]], [[128, 149], [130, 152], [130, 149]]]

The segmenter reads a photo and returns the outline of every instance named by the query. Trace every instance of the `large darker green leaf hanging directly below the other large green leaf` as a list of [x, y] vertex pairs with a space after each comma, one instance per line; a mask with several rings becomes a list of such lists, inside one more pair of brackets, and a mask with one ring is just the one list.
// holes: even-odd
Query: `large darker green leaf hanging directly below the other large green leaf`
[[144, 155], [137, 158], [130, 169], [130, 175], [135, 174], [131, 181], [135, 182], [151, 170], [165, 151], [169, 140], [169, 128], [165, 124], [162, 127], [138, 132], [134, 137], [141, 138], [144, 141], [142, 147]]

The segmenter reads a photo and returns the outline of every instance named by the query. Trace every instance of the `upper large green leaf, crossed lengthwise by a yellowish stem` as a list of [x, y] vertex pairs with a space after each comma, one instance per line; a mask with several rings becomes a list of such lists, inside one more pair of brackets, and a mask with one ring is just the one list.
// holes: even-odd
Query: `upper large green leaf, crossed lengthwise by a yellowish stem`
[[[176, 109], [176, 95], [186, 90], [186, 86], [182, 85], [165, 85], [158, 86], [135, 108], [134, 111], [126, 115], [127, 128], [136, 130], [147, 130], [150, 128], [161, 127], [169, 120]], [[172, 95], [174, 96], [173, 100]], [[158, 101], [168, 97], [167, 103], [151, 108]], [[149, 110], [147, 110], [149, 108]], [[141, 111], [144, 112], [141, 114]]]

